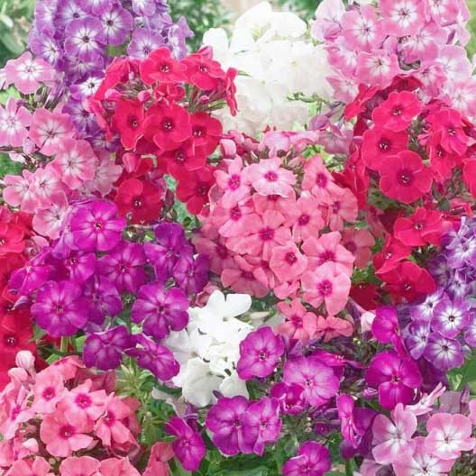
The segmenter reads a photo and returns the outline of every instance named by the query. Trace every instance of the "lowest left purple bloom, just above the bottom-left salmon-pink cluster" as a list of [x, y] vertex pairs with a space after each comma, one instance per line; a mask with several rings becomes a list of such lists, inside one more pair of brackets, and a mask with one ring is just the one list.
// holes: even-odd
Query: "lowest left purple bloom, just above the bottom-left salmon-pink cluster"
[[83, 349], [83, 362], [87, 367], [97, 367], [101, 371], [116, 369], [121, 365], [124, 352], [132, 346], [133, 336], [124, 325], [89, 334]]

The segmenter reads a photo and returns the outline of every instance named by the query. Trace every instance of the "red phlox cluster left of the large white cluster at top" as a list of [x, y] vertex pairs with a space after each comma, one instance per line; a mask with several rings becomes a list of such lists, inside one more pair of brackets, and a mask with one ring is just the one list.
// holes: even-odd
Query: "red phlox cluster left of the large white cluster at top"
[[109, 139], [119, 137], [126, 169], [154, 157], [156, 175], [175, 178], [177, 197], [197, 215], [214, 183], [207, 158], [222, 136], [211, 111], [227, 102], [235, 112], [235, 75], [210, 49], [178, 61], [160, 48], [142, 60], [115, 59], [88, 107]]

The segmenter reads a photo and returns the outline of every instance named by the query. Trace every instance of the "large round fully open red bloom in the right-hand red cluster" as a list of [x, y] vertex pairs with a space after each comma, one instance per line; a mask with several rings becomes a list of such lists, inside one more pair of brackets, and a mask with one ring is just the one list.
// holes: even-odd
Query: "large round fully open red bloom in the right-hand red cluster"
[[382, 160], [379, 167], [380, 190], [404, 204], [415, 202], [431, 189], [433, 178], [421, 157], [414, 151], [401, 151]]

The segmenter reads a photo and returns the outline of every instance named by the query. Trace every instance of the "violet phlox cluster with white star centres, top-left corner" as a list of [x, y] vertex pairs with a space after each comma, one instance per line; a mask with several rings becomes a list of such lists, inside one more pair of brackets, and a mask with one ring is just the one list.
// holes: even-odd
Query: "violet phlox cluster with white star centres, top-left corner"
[[166, 46], [180, 59], [193, 36], [187, 21], [174, 23], [165, 0], [41, 0], [35, 5], [29, 47], [64, 73], [69, 86], [65, 110], [83, 137], [97, 139], [94, 114], [82, 105], [117, 53], [145, 58]]

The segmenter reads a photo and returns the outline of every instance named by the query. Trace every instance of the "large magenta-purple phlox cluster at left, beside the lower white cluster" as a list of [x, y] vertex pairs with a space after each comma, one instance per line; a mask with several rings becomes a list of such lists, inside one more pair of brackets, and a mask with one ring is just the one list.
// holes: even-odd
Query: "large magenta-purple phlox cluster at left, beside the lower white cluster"
[[[126, 352], [168, 381], [179, 366], [160, 341], [188, 325], [189, 299], [205, 287], [208, 261], [194, 256], [179, 224], [157, 224], [145, 243], [124, 240], [125, 225], [114, 204], [78, 202], [59, 239], [16, 270], [10, 286], [23, 305], [32, 302], [36, 324], [51, 336], [87, 335], [87, 366], [114, 369]], [[123, 303], [132, 301], [127, 316]]]

